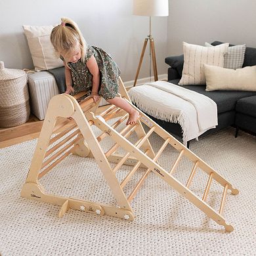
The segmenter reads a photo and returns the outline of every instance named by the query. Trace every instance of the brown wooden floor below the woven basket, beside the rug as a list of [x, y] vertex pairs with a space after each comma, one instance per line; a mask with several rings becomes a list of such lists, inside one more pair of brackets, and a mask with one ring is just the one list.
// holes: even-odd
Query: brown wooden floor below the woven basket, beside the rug
[[[101, 112], [107, 107], [108, 105], [102, 106], [98, 108], [98, 111]], [[38, 138], [42, 125], [43, 121], [32, 115], [23, 125], [9, 128], [0, 127], [0, 148]]]

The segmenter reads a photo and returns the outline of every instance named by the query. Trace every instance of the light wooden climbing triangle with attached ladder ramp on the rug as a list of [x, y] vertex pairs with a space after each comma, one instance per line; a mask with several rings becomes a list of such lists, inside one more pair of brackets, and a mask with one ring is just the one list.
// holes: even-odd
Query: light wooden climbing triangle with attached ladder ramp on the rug
[[[131, 104], [121, 79], [120, 89], [121, 96]], [[238, 190], [233, 188], [230, 182], [226, 181], [217, 171], [209, 167], [207, 163], [198, 158], [198, 156], [188, 150], [179, 140], [167, 133], [143, 112], [140, 112], [133, 104], [131, 104], [131, 107], [136, 108], [140, 112], [137, 123], [127, 125], [118, 132], [116, 128], [127, 119], [128, 114], [123, 113], [123, 110], [120, 108], [110, 105], [108, 109], [100, 113], [99, 116], [95, 116], [99, 102], [95, 104], [92, 98], [85, 98], [85, 100], [77, 102], [77, 98], [82, 95], [83, 94], [73, 97], [63, 94], [56, 95], [51, 99], [33, 155], [28, 177], [22, 188], [21, 194], [23, 197], [60, 205], [59, 217], [62, 217], [68, 209], [73, 208], [97, 215], [111, 215], [121, 219], [133, 220], [134, 213], [130, 203], [133, 198], [135, 198], [139, 188], [146, 180], [146, 177], [148, 177], [152, 171], [152, 173], [158, 175], [163, 181], [175, 188], [182, 196], [194, 203], [194, 205], [216, 223], [223, 225], [226, 231], [231, 232], [234, 230], [230, 224], [226, 223], [223, 217], [224, 202], [228, 189], [231, 190], [232, 194], [238, 194]], [[119, 118], [117, 120], [115, 119], [112, 125], [109, 125], [107, 121], [117, 118], [117, 115]], [[68, 119], [67, 117], [72, 117], [72, 119]], [[147, 133], [142, 123], [148, 127], [149, 130]], [[98, 137], [93, 133], [91, 125], [95, 125], [102, 131]], [[67, 133], [70, 134], [67, 135]], [[128, 140], [132, 133], [136, 133], [139, 138], [135, 144]], [[152, 133], [157, 133], [164, 140], [162, 146], [156, 153], [148, 140]], [[52, 137], [53, 134], [55, 134], [54, 137]], [[99, 142], [106, 137], [111, 138], [114, 141], [114, 145], [107, 152], [103, 152]], [[53, 143], [55, 143], [54, 146], [51, 146]], [[168, 144], [179, 152], [177, 160], [171, 165], [169, 171], [163, 169], [158, 163], [158, 158], [160, 158]], [[124, 155], [116, 153], [119, 146], [126, 151]], [[104, 178], [108, 182], [117, 200], [117, 207], [103, 203], [56, 196], [45, 192], [43, 186], [39, 183], [39, 179], [70, 154], [95, 158], [96, 163], [98, 163]], [[177, 169], [177, 165], [182, 157], [186, 157], [194, 163], [186, 185], [173, 177], [173, 173], [175, 169]], [[114, 162], [116, 165], [111, 167], [110, 162]], [[116, 173], [124, 164], [132, 165], [133, 167], [123, 181], [119, 182], [117, 181]], [[139, 167], [145, 168], [145, 171], [131, 194], [126, 196], [123, 188]], [[189, 189], [198, 168], [209, 175], [203, 198], [199, 198]], [[219, 182], [224, 188], [219, 211], [215, 211], [215, 209], [206, 203], [213, 179]]]

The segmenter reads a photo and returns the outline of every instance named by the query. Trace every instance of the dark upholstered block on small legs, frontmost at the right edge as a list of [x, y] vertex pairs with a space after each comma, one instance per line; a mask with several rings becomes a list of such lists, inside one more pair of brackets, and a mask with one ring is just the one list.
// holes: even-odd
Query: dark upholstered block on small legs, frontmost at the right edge
[[236, 137], [239, 129], [256, 133], [256, 96], [240, 98], [236, 102]]

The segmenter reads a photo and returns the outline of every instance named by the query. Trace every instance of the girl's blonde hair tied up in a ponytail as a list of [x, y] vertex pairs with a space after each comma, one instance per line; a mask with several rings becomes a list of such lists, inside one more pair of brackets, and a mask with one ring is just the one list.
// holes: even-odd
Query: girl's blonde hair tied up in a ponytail
[[51, 43], [58, 56], [64, 53], [64, 56], [62, 56], [64, 60], [71, 51], [77, 50], [78, 43], [81, 49], [81, 60], [85, 62], [87, 43], [77, 24], [70, 18], [61, 18], [61, 24], [53, 28], [51, 32]]

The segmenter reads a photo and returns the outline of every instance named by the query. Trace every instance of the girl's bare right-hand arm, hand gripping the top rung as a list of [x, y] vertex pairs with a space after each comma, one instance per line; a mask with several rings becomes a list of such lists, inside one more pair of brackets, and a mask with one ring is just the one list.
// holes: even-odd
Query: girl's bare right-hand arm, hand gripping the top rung
[[89, 72], [93, 75], [93, 89], [91, 90], [91, 94], [93, 100], [96, 102], [100, 97], [98, 95], [98, 87], [100, 86], [100, 70], [98, 70], [98, 64], [94, 56], [89, 58], [89, 60], [86, 62], [86, 66], [89, 69]]

